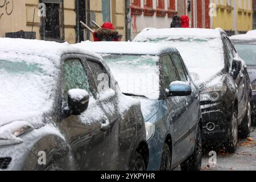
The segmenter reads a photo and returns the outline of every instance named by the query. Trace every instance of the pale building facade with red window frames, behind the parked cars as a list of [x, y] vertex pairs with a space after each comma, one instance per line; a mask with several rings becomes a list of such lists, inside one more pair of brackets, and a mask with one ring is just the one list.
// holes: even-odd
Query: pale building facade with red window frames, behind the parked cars
[[170, 28], [172, 16], [186, 13], [185, 0], [130, 0], [131, 39], [146, 27]]

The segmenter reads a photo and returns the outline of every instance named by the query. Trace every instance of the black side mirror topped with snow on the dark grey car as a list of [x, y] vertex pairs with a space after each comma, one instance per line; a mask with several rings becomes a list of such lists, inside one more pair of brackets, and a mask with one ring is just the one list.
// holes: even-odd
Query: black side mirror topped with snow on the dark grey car
[[89, 93], [82, 89], [68, 91], [68, 107], [72, 115], [80, 115], [88, 108]]

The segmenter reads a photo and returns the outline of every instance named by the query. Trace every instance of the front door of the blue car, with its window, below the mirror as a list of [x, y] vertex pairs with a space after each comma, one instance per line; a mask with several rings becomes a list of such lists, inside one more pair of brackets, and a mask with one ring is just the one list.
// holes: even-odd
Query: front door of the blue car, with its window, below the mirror
[[[178, 81], [179, 76], [170, 55], [163, 55], [164, 88], [168, 89], [171, 82]], [[187, 155], [188, 118], [186, 109], [186, 97], [167, 97], [167, 115], [171, 126], [171, 134], [174, 143], [172, 149], [172, 164], [175, 165]]]

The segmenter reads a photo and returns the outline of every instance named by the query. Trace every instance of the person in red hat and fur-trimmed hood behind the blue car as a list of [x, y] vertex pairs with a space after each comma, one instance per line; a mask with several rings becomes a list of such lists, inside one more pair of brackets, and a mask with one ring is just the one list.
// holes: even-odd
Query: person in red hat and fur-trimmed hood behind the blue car
[[98, 28], [96, 32], [93, 32], [94, 42], [99, 41], [121, 41], [122, 35], [119, 35], [118, 31], [115, 30], [114, 26], [110, 22], [102, 24], [101, 28]]

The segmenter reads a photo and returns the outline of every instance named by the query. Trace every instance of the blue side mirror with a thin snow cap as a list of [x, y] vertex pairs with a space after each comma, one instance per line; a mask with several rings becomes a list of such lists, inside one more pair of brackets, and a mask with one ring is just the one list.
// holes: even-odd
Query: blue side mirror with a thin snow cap
[[[167, 89], [168, 90], [168, 89]], [[192, 93], [192, 88], [187, 82], [174, 81], [169, 86], [168, 95], [169, 96], [190, 96]]]

